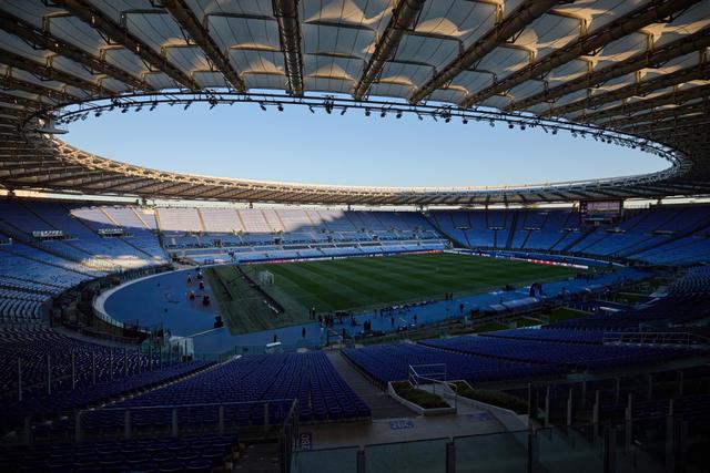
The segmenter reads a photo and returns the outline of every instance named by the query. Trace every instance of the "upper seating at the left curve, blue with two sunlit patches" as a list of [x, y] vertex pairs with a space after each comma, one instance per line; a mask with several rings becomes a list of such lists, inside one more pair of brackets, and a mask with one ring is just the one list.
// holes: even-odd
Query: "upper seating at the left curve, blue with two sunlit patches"
[[166, 264], [154, 226], [132, 206], [0, 200], [0, 291], [14, 290], [0, 299], [0, 325], [40, 323], [50, 296], [111, 273]]

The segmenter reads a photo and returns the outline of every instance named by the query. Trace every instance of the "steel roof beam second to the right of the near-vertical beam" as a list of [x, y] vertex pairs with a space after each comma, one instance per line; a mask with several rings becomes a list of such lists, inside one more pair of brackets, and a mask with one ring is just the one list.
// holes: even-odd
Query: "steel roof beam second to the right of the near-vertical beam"
[[468, 70], [474, 63], [501, 45], [506, 40], [541, 17], [557, 3], [557, 0], [526, 0], [520, 7], [508, 13], [503, 21], [497, 23], [490, 31], [484, 34], [483, 38], [468, 47], [458, 58], [449, 62], [438, 74], [416, 91], [412, 97], [409, 97], [409, 103], [415, 104], [420, 102], [432, 92], [450, 82], [463, 71]]

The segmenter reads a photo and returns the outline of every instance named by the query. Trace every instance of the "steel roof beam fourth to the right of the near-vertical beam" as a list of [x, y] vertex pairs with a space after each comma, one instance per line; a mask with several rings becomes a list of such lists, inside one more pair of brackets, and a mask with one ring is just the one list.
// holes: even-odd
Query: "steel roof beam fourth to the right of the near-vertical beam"
[[693, 51], [701, 51], [708, 47], [710, 47], [710, 28], [706, 28], [698, 33], [689, 34], [671, 43], [663, 44], [651, 52], [642, 52], [625, 61], [581, 75], [580, 78], [565, 81], [561, 85], [534, 94], [527, 99], [515, 101], [504, 107], [504, 111], [525, 110], [540, 102], [550, 102], [572, 92], [594, 88], [641, 69], [658, 68], [674, 58]]

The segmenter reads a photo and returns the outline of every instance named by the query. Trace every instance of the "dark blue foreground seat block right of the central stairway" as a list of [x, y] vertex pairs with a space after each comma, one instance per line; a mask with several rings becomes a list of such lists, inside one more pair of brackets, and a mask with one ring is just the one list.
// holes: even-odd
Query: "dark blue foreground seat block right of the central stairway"
[[356, 367], [375, 382], [409, 378], [409, 368], [439, 366], [440, 380], [490, 382], [513, 379], [532, 379], [575, 371], [630, 367], [688, 357], [693, 352], [683, 348], [620, 347], [601, 345], [599, 335], [580, 336], [555, 330], [551, 337], [520, 337], [510, 332], [484, 337], [456, 337], [419, 342], [419, 345], [389, 345], [344, 350]]

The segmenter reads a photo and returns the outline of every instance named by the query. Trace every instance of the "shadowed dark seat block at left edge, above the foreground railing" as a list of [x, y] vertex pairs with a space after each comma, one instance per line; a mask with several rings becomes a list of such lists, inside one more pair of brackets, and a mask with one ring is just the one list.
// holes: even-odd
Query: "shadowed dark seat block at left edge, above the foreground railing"
[[2, 403], [2, 422], [9, 424], [30, 414], [95, 403], [209, 366], [189, 362], [161, 369], [174, 361], [168, 353], [83, 341], [49, 328], [0, 329], [0, 392], [16, 399]]

